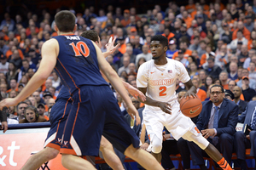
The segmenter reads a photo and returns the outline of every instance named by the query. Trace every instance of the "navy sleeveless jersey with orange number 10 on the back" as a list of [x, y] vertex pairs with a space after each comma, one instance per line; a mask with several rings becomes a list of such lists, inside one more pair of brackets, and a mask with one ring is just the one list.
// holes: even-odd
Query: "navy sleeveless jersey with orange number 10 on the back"
[[108, 86], [99, 71], [96, 48], [89, 39], [75, 35], [53, 38], [60, 47], [55, 71], [70, 94], [84, 85]]

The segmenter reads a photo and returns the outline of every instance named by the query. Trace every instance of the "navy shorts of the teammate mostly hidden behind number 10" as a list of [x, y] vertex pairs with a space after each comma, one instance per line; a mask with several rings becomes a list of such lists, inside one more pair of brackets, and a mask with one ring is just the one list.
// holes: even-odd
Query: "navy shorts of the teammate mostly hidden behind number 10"
[[44, 147], [60, 150], [63, 129], [65, 127], [71, 105], [71, 101], [58, 99], [52, 107], [49, 117], [50, 128], [47, 138], [45, 139]]

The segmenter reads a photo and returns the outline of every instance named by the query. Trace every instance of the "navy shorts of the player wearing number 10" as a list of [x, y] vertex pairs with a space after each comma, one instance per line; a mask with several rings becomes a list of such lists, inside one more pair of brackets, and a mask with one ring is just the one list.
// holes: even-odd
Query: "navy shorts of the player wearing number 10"
[[122, 116], [112, 90], [108, 86], [84, 86], [73, 94], [60, 152], [97, 156], [102, 133], [121, 152], [131, 144], [139, 146], [139, 139]]

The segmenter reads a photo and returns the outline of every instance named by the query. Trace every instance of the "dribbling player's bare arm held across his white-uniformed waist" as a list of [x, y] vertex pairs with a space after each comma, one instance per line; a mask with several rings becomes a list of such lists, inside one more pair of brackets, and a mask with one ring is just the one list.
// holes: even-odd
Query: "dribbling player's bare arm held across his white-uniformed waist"
[[[143, 94], [146, 94], [147, 92], [147, 88], [138, 88]], [[142, 99], [139, 98], [139, 100], [141, 102], [143, 102], [146, 105], [151, 105], [154, 107], [160, 107], [160, 109], [168, 114], [172, 114], [172, 109], [171, 109], [171, 105], [167, 102], [161, 102], [161, 101], [157, 101], [151, 98], [148, 98], [148, 96], [146, 96], [146, 100], [143, 101]]]

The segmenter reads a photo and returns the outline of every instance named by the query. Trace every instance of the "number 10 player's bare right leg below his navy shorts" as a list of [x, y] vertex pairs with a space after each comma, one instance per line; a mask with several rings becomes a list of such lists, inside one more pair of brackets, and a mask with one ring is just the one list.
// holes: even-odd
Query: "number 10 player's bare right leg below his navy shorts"
[[125, 156], [131, 157], [134, 161], [137, 161], [145, 169], [164, 169], [160, 166], [160, 163], [154, 159], [154, 156], [151, 156], [145, 150], [134, 148], [132, 144], [125, 150], [124, 154]]

